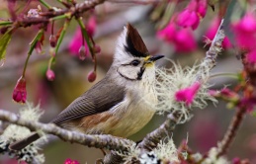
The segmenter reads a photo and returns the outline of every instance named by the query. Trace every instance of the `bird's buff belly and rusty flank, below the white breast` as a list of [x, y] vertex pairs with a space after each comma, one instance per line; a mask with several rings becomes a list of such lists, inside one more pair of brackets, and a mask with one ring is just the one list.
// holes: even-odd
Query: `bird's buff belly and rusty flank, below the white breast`
[[151, 106], [142, 101], [130, 104], [127, 109], [119, 109], [116, 113], [107, 111], [87, 116], [78, 123], [78, 130], [90, 134], [106, 133], [128, 137], [148, 123], [154, 113]]

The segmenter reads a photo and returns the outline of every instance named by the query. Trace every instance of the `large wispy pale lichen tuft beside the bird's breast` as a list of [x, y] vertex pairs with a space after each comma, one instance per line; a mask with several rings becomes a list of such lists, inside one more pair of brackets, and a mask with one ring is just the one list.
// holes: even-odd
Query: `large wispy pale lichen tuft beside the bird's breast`
[[[171, 61], [171, 60], [170, 60]], [[158, 104], [155, 110], [159, 114], [163, 113], [175, 113], [182, 114], [182, 118], [179, 123], [185, 123], [191, 118], [191, 114], [188, 109], [200, 108], [203, 109], [208, 105], [207, 101], [216, 103], [216, 99], [209, 94], [210, 85], [207, 83], [209, 78], [209, 71], [200, 75], [201, 87], [197, 92], [193, 103], [188, 107], [185, 102], [177, 102], [175, 99], [175, 93], [181, 89], [190, 87], [196, 81], [198, 81], [198, 73], [200, 72], [200, 66], [194, 65], [192, 67], [182, 68], [181, 65], [173, 63], [172, 68], [156, 68], [156, 86], [155, 91], [158, 97]]]

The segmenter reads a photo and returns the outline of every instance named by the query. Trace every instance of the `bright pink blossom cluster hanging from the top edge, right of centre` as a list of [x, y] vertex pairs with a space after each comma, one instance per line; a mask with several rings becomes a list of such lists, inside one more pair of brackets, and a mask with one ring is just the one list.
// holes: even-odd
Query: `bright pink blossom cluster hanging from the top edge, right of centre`
[[196, 30], [200, 20], [206, 16], [208, 9], [206, 0], [192, 0], [188, 7], [177, 17], [177, 24], [183, 28]]

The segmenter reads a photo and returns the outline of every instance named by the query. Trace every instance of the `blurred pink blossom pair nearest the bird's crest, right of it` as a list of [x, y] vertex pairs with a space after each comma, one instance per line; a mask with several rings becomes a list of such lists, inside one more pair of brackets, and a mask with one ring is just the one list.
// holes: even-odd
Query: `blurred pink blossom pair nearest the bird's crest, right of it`
[[161, 40], [173, 43], [176, 51], [179, 52], [190, 52], [197, 47], [191, 30], [178, 28], [173, 22], [170, 22], [163, 30], [158, 31], [156, 35]]

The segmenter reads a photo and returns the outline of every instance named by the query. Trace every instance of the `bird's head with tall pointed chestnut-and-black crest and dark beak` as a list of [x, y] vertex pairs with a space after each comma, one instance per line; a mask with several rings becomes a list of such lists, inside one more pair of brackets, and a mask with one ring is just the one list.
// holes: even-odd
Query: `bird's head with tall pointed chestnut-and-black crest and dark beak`
[[123, 78], [138, 81], [146, 74], [154, 75], [154, 63], [162, 57], [150, 55], [137, 31], [128, 24], [118, 40], [113, 66]]

